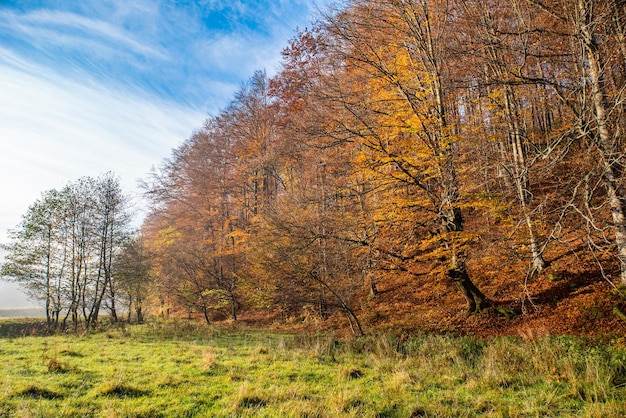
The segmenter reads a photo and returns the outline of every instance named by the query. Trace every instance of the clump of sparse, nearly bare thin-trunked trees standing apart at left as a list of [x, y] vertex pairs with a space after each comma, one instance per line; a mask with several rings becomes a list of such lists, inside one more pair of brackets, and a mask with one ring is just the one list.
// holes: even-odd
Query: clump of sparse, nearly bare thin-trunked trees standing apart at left
[[45, 306], [51, 329], [89, 329], [101, 310], [116, 321], [118, 304], [129, 309], [139, 271], [133, 264], [124, 276], [130, 221], [129, 199], [112, 173], [48, 190], [9, 231], [0, 273]]

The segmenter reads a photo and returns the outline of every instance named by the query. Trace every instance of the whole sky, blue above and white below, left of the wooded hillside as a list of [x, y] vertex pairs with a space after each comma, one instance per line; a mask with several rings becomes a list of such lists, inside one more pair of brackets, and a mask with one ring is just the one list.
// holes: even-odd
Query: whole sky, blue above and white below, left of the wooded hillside
[[[42, 192], [80, 177], [112, 171], [139, 196], [326, 3], [0, 0], [0, 243]], [[0, 282], [0, 309], [28, 306]]]

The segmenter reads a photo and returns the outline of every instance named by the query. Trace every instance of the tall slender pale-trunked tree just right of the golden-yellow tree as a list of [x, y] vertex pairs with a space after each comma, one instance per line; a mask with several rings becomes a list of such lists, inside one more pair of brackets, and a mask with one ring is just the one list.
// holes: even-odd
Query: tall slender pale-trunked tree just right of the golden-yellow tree
[[528, 118], [522, 108], [522, 102], [532, 103], [527, 90], [535, 83], [517, 75], [521, 67], [538, 65], [529, 58], [534, 52], [529, 46], [533, 44], [532, 34], [525, 27], [532, 14], [525, 13], [517, 0], [459, 3], [463, 20], [456, 27], [458, 44], [466, 44], [460, 52], [470, 60], [459, 55], [456, 64], [475, 68], [475, 71], [463, 70], [460, 77], [468, 85], [485, 91], [484, 109], [488, 111], [479, 118], [479, 129], [482, 128], [485, 137], [494, 138], [498, 146], [499, 152], [493, 157], [499, 160], [506, 183], [515, 191], [528, 231], [531, 271], [541, 272], [546, 262], [537, 237], [531, 188], [531, 170], [538, 162], [533, 157], [541, 149], [531, 141], [526, 127]]

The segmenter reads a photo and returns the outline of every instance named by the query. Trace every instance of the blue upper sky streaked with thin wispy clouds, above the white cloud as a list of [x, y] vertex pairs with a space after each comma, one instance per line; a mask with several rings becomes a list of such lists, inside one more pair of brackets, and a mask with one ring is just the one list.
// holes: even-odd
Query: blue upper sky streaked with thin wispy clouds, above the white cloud
[[30, 50], [30, 59], [57, 71], [85, 70], [101, 83], [210, 111], [255, 70], [272, 74], [315, 8], [307, 0], [46, 3], [30, 11], [0, 7], [0, 45]]

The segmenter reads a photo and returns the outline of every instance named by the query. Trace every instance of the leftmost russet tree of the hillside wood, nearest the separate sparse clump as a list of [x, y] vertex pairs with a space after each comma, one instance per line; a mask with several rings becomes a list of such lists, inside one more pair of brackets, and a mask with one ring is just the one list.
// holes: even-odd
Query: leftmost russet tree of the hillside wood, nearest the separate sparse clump
[[[155, 254], [154, 274], [163, 292], [188, 311], [202, 312], [207, 321], [209, 311], [225, 306], [236, 319], [239, 307], [242, 253], [233, 232], [242, 210], [232, 185], [232, 149], [221, 139], [226, 137], [215, 121], [207, 122], [146, 185], [160, 208], [144, 230]], [[211, 302], [216, 292], [227, 295], [226, 303]]]

